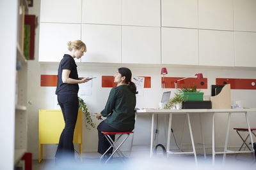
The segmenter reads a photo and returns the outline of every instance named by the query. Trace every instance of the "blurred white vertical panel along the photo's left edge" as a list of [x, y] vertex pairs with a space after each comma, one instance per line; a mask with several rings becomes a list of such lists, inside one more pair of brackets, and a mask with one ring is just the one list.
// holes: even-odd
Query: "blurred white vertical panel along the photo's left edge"
[[13, 169], [18, 1], [0, 2], [0, 169]]

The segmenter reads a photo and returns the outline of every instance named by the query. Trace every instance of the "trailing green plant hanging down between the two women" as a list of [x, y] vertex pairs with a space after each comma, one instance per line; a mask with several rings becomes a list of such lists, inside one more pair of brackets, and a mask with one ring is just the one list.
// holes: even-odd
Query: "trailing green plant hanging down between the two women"
[[90, 129], [90, 127], [95, 128], [95, 123], [92, 122], [92, 117], [90, 112], [88, 111], [88, 108], [86, 104], [84, 103], [84, 100], [78, 97], [79, 100], [79, 109], [83, 111], [84, 119], [85, 119], [85, 127]]

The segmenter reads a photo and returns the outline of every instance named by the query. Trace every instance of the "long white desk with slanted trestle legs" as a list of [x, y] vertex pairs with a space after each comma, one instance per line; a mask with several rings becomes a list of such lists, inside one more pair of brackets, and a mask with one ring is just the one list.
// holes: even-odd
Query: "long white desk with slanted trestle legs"
[[[224, 155], [223, 155], [223, 162], [224, 162], [225, 157], [226, 157], [226, 153], [242, 153], [242, 152], [234, 152], [234, 151], [227, 150], [231, 113], [244, 113], [246, 123], [247, 123], [247, 127], [248, 127], [249, 134], [250, 134], [251, 143], [252, 143], [252, 151], [248, 151], [248, 152], [254, 152], [252, 132], [250, 131], [250, 124], [248, 122], [248, 117], [247, 117], [248, 111], [256, 111], [256, 108], [250, 108], [250, 109], [195, 109], [195, 110], [150, 110], [149, 109], [149, 110], [137, 110], [136, 113], [137, 113], [137, 115], [141, 115], [141, 114], [145, 114], [145, 113], [152, 114], [150, 157], [152, 157], [152, 155], [153, 155], [154, 116], [156, 114], [170, 114], [169, 126], [168, 126], [168, 138], [167, 138], [167, 153], [172, 154], [173, 152], [170, 152], [170, 135], [171, 135], [171, 127], [172, 127], [172, 114], [186, 114], [188, 116], [189, 132], [190, 132], [190, 136], [191, 136], [191, 143], [192, 143], [192, 146], [193, 146], [193, 152], [185, 152], [185, 153], [193, 153], [195, 155], [196, 164], [197, 164], [196, 151], [195, 151], [193, 133], [192, 133], [191, 124], [190, 124], [189, 113], [212, 113], [212, 164], [214, 164], [215, 154], [224, 153]], [[215, 114], [216, 113], [228, 113], [227, 134], [226, 134], [226, 139], [225, 139], [225, 148], [224, 148], [223, 152], [215, 152], [214, 124], [215, 124]], [[201, 131], [202, 131], [202, 129], [201, 129]], [[248, 152], [246, 151], [246, 153], [248, 153]], [[177, 152], [175, 152], [175, 153], [177, 153]], [[184, 152], [179, 152], [179, 153], [184, 153]]]

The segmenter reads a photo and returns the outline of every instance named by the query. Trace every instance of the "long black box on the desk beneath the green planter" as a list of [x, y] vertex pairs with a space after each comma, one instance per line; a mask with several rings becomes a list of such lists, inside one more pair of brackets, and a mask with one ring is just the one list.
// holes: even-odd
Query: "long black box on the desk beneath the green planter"
[[183, 101], [182, 109], [211, 109], [211, 101]]

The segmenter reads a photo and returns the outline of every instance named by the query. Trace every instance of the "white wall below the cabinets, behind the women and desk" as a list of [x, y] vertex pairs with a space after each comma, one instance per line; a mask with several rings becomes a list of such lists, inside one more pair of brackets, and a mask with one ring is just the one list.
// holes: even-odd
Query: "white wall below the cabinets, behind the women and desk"
[[[34, 1], [34, 7], [29, 8], [29, 13], [40, 15], [40, 2]], [[28, 106], [28, 151], [33, 153], [33, 159], [38, 159], [38, 110], [40, 109], [60, 109], [57, 105], [55, 95], [55, 87], [40, 87], [40, 74], [57, 74], [58, 64], [40, 64], [38, 60], [38, 28], [36, 29], [35, 38], [35, 60], [28, 62], [28, 101], [32, 105]], [[51, 39], [49, 39], [51, 41]], [[63, 52], [65, 53], [65, 52]], [[86, 58], [86, 53], [83, 56]], [[120, 66], [127, 66], [131, 69], [134, 76], [151, 76], [151, 89], [145, 89], [144, 96], [137, 97], [136, 107], [147, 108], [157, 107], [161, 99], [161, 67], [160, 65], [139, 65], [139, 64], [78, 64], [79, 75], [97, 76], [93, 80], [92, 96], [84, 96], [83, 98], [92, 113], [101, 111], [106, 104], [110, 88], [101, 87], [102, 75], [113, 75], [116, 69]], [[255, 69], [234, 69], [232, 67], [194, 67], [194, 66], [166, 66], [168, 76], [189, 76], [193, 73], [203, 73], [205, 78], [208, 78], [208, 89], [202, 90], [205, 94], [210, 94], [210, 85], [215, 84], [215, 78], [255, 78]], [[166, 89], [172, 90], [174, 89]], [[256, 108], [256, 90], [231, 90], [232, 102], [241, 100], [244, 106]], [[256, 115], [249, 113], [250, 124], [256, 127]], [[202, 115], [205, 143], [207, 147], [211, 147], [211, 115]], [[168, 117], [167, 117], [168, 120]], [[99, 121], [94, 118], [94, 122], [99, 124]], [[184, 122], [183, 115], [173, 116], [173, 130], [177, 136], [177, 143], [180, 142], [182, 127]], [[198, 115], [191, 115], [191, 124], [195, 143], [200, 142], [200, 128]], [[159, 138], [157, 143], [164, 143], [164, 117], [159, 117]], [[246, 127], [243, 115], [232, 115], [230, 127]], [[225, 140], [225, 128], [227, 126], [227, 114], [216, 115], [216, 146], [223, 147]], [[188, 125], [186, 126], [186, 137], [184, 143], [189, 144]], [[83, 150], [84, 152], [97, 151], [97, 130], [88, 131], [84, 128], [83, 132]], [[128, 140], [129, 142], [131, 139]], [[236, 132], [230, 130], [229, 146], [239, 147], [241, 139]], [[125, 144], [123, 150], [129, 149], [129, 142]], [[134, 134], [134, 145], [149, 145], [150, 144], [150, 117], [141, 116], [136, 121], [136, 129]], [[184, 145], [191, 148], [191, 145]], [[201, 146], [198, 145], [198, 148]], [[172, 141], [171, 148], [176, 148]], [[140, 147], [134, 148], [141, 150]], [[144, 149], [144, 148], [143, 148]], [[56, 145], [44, 145], [44, 159], [54, 157]], [[149, 150], [148, 150], [149, 151]], [[200, 150], [198, 150], [200, 152]]]

